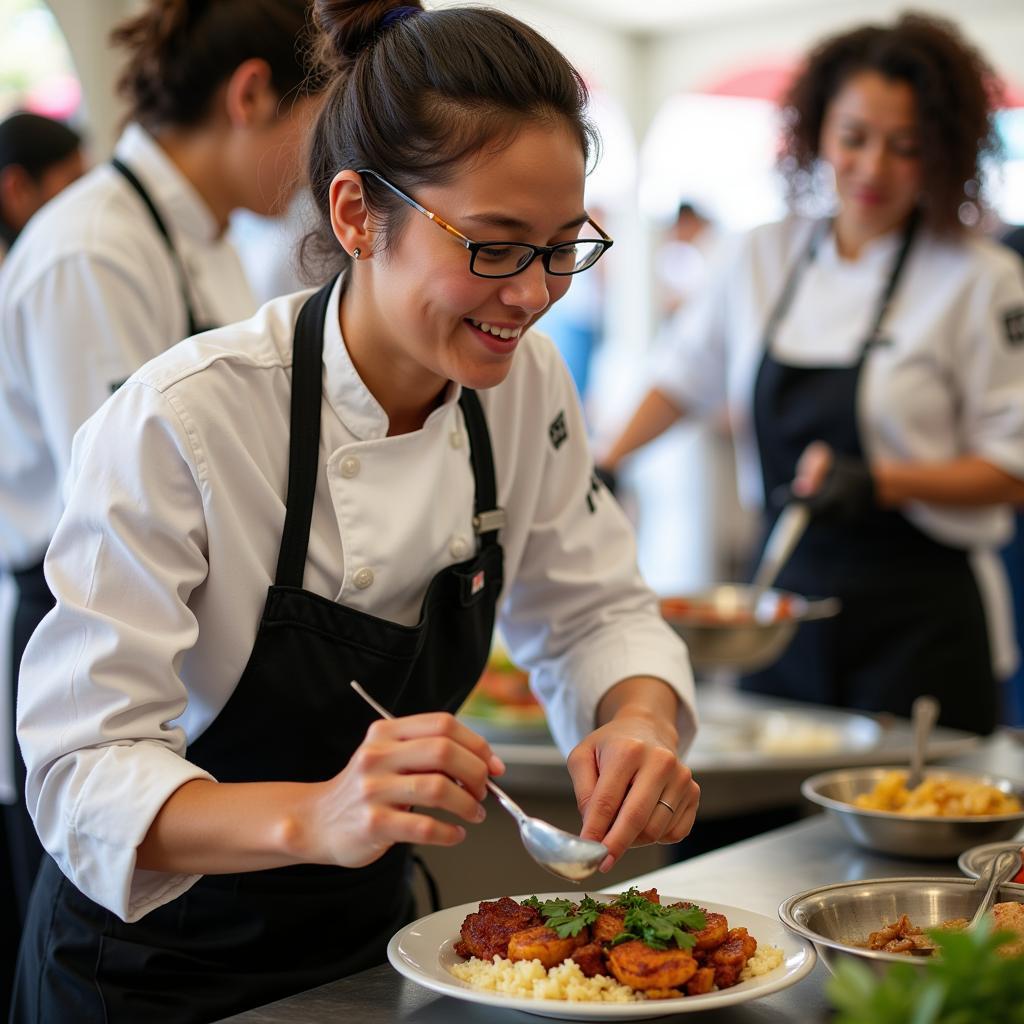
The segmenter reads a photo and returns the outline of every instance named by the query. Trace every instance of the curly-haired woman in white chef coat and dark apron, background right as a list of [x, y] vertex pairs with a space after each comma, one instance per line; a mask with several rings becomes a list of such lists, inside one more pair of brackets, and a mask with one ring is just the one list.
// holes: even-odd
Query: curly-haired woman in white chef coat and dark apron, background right
[[[835, 595], [743, 680], [782, 697], [988, 732], [1014, 650], [995, 549], [1024, 501], [1024, 282], [965, 226], [996, 148], [996, 82], [950, 24], [906, 15], [826, 39], [786, 101], [794, 199], [835, 213], [741, 240], [676, 327], [604, 466], [728, 402], [741, 493], [811, 524], [777, 581]], [[968, 218], [969, 219], [969, 218]]]

